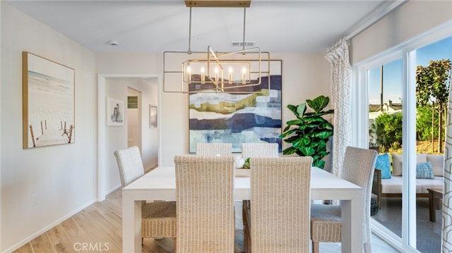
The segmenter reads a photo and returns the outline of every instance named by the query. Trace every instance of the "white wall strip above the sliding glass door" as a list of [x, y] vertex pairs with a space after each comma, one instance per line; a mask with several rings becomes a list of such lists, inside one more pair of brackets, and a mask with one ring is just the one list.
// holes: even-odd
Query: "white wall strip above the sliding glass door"
[[452, 1], [407, 1], [352, 38], [352, 64], [391, 49], [451, 20]]

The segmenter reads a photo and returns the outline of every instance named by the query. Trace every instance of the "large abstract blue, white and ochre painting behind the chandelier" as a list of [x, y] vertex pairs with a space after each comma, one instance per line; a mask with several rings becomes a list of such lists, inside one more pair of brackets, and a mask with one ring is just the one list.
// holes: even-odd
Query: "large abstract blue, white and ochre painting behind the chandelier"
[[271, 61], [270, 75], [249, 87], [262, 92], [190, 94], [189, 152], [198, 142], [231, 143], [232, 152], [242, 152], [242, 143], [278, 143], [281, 152], [281, 86], [281, 61]]

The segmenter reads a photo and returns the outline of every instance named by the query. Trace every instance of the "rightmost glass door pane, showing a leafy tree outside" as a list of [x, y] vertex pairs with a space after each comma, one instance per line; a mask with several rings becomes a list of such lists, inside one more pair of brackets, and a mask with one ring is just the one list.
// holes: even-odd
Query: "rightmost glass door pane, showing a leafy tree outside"
[[[446, 110], [448, 101], [448, 87], [450, 85], [450, 72], [441, 77], [444, 63], [452, 59], [452, 37], [442, 39], [439, 42], [429, 44], [416, 50], [417, 65], [417, 119], [416, 119], [416, 143], [417, 154], [429, 154], [428, 156], [444, 160], [444, 137], [446, 122]], [[430, 75], [434, 73], [434, 75]], [[436, 85], [434, 83], [436, 82]], [[422, 93], [421, 93], [422, 91]], [[432, 92], [435, 91], [435, 92]], [[424, 92], [431, 92], [424, 96]], [[429, 159], [428, 159], [429, 160]], [[434, 163], [433, 163], [434, 164]], [[442, 192], [441, 169], [435, 171], [435, 178], [417, 179], [419, 182], [428, 183], [428, 188], [439, 189]], [[417, 182], [418, 183], [418, 182]], [[427, 187], [423, 187], [420, 193], [426, 194]], [[441, 194], [439, 195], [441, 196]], [[441, 202], [441, 199], [439, 199]], [[435, 221], [430, 221], [429, 199], [416, 198], [416, 228], [417, 249], [420, 252], [441, 252], [441, 204], [435, 206]], [[439, 208], [439, 209], [437, 209]]]

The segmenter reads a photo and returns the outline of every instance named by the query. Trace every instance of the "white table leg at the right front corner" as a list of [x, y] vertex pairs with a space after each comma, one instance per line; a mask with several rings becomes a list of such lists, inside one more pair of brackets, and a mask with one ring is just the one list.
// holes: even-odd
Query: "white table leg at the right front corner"
[[362, 252], [362, 195], [341, 200], [342, 252]]

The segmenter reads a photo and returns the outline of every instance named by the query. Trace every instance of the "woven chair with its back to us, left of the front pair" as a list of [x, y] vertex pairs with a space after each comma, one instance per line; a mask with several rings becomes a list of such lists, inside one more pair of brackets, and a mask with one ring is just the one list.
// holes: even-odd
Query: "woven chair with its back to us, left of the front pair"
[[175, 156], [177, 252], [234, 252], [234, 156]]

